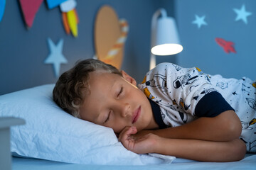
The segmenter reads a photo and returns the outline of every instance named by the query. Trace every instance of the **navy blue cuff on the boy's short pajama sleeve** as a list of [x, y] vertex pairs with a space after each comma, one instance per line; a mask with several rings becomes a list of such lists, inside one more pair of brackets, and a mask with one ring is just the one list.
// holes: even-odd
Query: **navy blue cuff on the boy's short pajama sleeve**
[[195, 115], [198, 117], [215, 117], [224, 111], [229, 111], [234, 109], [230, 104], [225, 101], [225, 98], [218, 93], [213, 91], [206, 96], [203, 96], [195, 108]]

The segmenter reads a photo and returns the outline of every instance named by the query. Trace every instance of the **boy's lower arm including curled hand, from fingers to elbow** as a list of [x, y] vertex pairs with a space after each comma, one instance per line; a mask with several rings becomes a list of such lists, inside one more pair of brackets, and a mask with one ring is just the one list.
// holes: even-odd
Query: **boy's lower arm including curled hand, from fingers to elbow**
[[138, 154], [158, 153], [203, 162], [232, 162], [243, 159], [246, 152], [244, 142], [235, 139], [228, 142], [204, 140], [180, 140], [159, 137], [154, 134], [133, 137], [137, 130], [127, 127], [119, 140], [124, 147]]

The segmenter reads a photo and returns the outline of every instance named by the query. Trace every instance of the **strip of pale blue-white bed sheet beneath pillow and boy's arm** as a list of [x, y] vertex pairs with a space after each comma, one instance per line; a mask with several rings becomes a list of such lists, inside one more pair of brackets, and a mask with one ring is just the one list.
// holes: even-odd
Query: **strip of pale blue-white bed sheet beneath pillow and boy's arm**
[[66, 164], [62, 162], [52, 162], [42, 159], [26, 159], [13, 157], [12, 162], [13, 170], [161, 170], [161, 169], [194, 169], [194, 170], [215, 170], [215, 169], [256, 169], [256, 154], [246, 154], [245, 159], [239, 162], [194, 162], [188, 159], [175, 159], [172, 164], [155, 164], [155, 165], [143, 165], [143, 166], [105, 166], [105, 165], [85, 165], [85, 164]]

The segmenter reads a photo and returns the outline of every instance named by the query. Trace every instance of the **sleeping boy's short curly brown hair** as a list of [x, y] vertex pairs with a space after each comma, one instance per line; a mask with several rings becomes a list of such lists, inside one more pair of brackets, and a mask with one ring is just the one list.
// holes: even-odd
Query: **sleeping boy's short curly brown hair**
[[79, 108], [85, 97], [90, 94], [89, 73], [97, 70], [122, 76], [121, 72], [110, 64], [94, 59], [82, 60], [61, 74], [53, 89], [53, 101], [70, 115], [80, 118]]

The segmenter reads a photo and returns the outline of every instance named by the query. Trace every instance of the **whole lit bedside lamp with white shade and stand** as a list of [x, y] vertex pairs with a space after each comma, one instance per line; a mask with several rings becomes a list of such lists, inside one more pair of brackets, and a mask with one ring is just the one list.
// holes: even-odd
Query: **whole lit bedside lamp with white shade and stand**
[[[159, 16], [161, 16], [159, 18]], [[174, 18], [168, 17], [166, 10], [157, 10], [151, 21], [151, 57], [149, 69], [156, 67], [155, 55], [175, 55], [183, 50], [178, 39]]]

